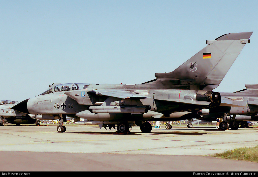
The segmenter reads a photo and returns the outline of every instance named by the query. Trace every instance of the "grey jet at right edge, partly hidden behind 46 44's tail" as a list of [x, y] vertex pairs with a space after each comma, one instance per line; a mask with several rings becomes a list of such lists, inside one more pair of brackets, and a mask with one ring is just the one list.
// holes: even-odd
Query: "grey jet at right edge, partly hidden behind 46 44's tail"
[[[241, 127], [247, 127], [246, 121], [258, 120], [258, 84], [245, 85], [244, 90], [234, 93], [220, 93], [221, 99], [229, 104], [236, 106], [218, 106], [209, 109], [209, 114], [201, 116], [201, 120], [210, 120], [211, 118], [223, 118], [220, 122], [220, 129], [230, 128], [237, 130], [239, 122]], [[229, 116], [229, 117], [228, 117]]]

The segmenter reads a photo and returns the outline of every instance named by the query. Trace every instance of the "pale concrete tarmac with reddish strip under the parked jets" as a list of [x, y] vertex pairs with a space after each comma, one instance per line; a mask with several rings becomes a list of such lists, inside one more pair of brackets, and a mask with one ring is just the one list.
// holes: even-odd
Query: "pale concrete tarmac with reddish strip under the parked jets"
[[[133, 127], [130, 134], [98, 126], [0, 126], [0, 171], [258, 171], [258, 163], [212, 157], [258, 145], [258, 128]], [[258, 174], [258, 173], [256, 173]]]

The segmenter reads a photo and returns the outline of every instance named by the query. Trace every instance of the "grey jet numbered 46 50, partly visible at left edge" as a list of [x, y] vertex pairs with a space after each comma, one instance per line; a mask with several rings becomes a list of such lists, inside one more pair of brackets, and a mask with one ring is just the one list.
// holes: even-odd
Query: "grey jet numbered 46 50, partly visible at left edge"
[[34, 119], [35, 115], [25, 114], [19, 111], [11, 109], [14, 105], [17, 105], [17, 101], [2, 100], [0, 101], [0, 126], [4, 125], [4, 120], [6, 122], [13, 123], [16, 125], [22, 124], [33, 124], [40, 125], [40, 121]]

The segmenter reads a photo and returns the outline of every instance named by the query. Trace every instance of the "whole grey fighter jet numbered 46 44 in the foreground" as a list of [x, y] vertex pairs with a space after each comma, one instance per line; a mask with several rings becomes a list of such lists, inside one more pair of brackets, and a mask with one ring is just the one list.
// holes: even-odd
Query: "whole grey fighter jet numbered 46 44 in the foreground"
[[[175, 112], [196, 112], [221, 105], [216, 88], [253, 32], [225, 34], [206, 41], [207, 46], [170, 73], [142, 84], [52, 84], [44, 93], [15, 105], [42, 119], [59, 118], [58, 132], [65, 132], [66, 116], [77, 124], [95, 124], [127, 133], [132, 126], [150, 132], [151, 119], [171, 121]], [[78, 118], [87, 119], [79, 121]]]

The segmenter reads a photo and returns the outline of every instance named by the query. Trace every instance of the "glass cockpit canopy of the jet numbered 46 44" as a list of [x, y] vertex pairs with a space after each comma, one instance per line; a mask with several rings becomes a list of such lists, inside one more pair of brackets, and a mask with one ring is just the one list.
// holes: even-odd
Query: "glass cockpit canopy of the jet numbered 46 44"
[[46, 95], [53, 92], [63, 92], [69, 90], [79, 90], [87, 88], [90, 84], [76, 84], [76, 83], [68, 83], [68, 84], [59, 84], [56, 86], [51, 86], [47, 91], [43, 92], [40, 95]]

